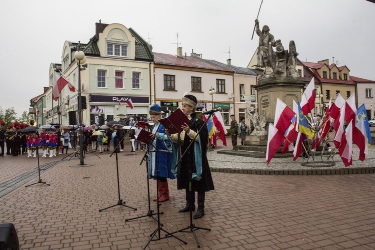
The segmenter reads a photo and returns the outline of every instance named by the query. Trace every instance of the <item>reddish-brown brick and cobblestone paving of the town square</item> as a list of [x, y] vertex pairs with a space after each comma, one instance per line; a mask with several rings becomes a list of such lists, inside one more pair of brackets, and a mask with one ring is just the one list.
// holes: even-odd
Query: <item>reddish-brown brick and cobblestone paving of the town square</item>
[[[229, 141], [228, 141], [229, 142]], [[230, 143], [230, 142], [229, 142]], [[208, 152], [212, 168], [267, 168], [264, 159], [217, 154], [219, 145]], [[125, 150], [126, 151], [126, 150]], [[143, 152], [118, 154], [120, 198], [115, 156], [87, 154], [79, 159], [62, 156], [37, 159], [26, 155], [0, 158], [0, 223], [14, 224], [21, 249], [141, 249], [157, 223], [145, 215], [148, 210]], [[130, 151], [130, 150], [127, 150]], [[353, 167], [372, 167], [370, 147], [364, 162]], [[340, 168], [339, 156], [335, 156]], [[268, 168], [300, 168], [302, 159], [272, 159]], [[343, 166], [343, 165], [342, 165]], [[342, 167], [341, 166], [341, 167]], [[26, 176], [25, 176], [26, 175]], [[344, 175], [252, 175], [212, 172], [215, 190], [206, 194], [205, 215], [193, 220], [202, 249], [374, 249], [374, 174]], [[9, 187], [9, 182], [12, 185]], [[161, 203], [163, 229], [171, 232], [189, 226], [189, 214], [178, 213], [184, 206], [184, 191], [169, 180], [170, 199]], [[156, 189], [150, 180], [151, 199]], [[156, 202], [151, 200], [151, 209]], [[157, 235], [157, 234], [156, 234]], [[151, 241], [149, 249], [191, 249], [197, 244], [189, 232]], [[163, 236], [163, 233], [161, 234]], [[154, 238], [155, 239], [155, 238]]]

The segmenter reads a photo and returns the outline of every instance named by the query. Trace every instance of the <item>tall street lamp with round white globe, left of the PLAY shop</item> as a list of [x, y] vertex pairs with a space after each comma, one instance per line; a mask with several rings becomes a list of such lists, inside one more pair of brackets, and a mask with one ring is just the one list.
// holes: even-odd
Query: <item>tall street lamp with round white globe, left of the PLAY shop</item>
[[[75, 62], [77, 62], [78, 65], [78, 138], [79, 138], [79, 164], [84, 165], [83, 162], [83, 126], [82, 126], [82, 102], [81, 102], [81, 90], [80, 90], [80, 72], [82, 70], [85, 70], [87, 67], [87, 64], [84, 64], [86, 62], [86, 57], [84, 56], [83, 51], [80, 51], [80, 41], [78, 42], [78, 49], [74, 53]], [[82, 67], [81, 67], [82, 66]]]

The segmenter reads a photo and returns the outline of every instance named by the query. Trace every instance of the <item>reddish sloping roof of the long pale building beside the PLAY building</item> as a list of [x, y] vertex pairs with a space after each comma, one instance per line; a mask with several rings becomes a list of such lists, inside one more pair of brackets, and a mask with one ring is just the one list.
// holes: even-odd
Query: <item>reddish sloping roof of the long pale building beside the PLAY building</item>
[[171, 66], [180, 66], [188, 68], [197, 68], [197, 69], [208, 69], [208, 70], [219, 70], [231, 72], [228, 69], [220, 67], [218, 65], [210, 63], [208, 60], [204, 60], [197, 57], [176, 57], [174, 55], [162, 54], [162, 53], [153, 53], [153, 60], [155, 65], [171, 65]]

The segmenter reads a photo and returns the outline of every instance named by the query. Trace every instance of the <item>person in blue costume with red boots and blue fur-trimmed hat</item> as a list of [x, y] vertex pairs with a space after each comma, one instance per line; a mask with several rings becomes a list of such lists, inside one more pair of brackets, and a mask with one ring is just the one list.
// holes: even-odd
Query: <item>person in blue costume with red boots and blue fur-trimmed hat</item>
[[[148, 112], [151, 116], [152, 127], [151, 137], [155, 137], [152, 142], [152, 146], [149, 152], [148, 158], [148, 177], [157, 180], [158, 191], [159, 191], [159, 202], [163, 202], [169, 199], [169, 187], [167, 179], [174, 179], [174, 175], [171, 172], [172, 167], [172, 141], [165, 134], [165, 128], [158, 121], [161, 118], [161, 108], [158, 104], [153, 104], [149, 108]], [[155, 150], [161, 150], [154, 152]], [[169, 151], [169, 152], [166, 152]], [[157, 177], [156, 177], [156, 169]], [[157, 199], [154, 198], [154, 201]]]

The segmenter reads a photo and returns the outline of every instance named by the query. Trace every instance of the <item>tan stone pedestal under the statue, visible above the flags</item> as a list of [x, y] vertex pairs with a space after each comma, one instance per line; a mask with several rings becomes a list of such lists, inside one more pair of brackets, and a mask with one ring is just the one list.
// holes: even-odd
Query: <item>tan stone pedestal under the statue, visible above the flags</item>
[[293, 100], [300, 102], [304, 85], [305, 83], [298, 78], [286, 76], [259, 80], [258, 84], [254, 86], [258, 96], [258, 114], [265, 110], [267, 112], [267, 123], [273, 123], [277, 98], [293, 109]]

